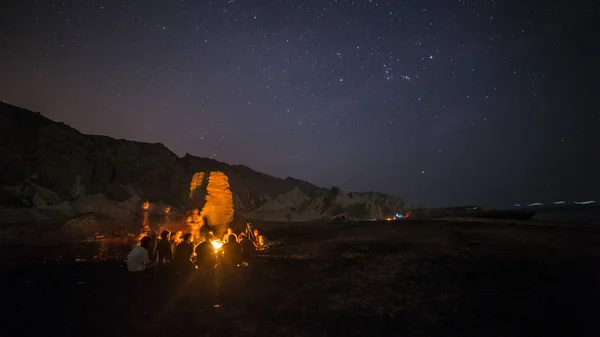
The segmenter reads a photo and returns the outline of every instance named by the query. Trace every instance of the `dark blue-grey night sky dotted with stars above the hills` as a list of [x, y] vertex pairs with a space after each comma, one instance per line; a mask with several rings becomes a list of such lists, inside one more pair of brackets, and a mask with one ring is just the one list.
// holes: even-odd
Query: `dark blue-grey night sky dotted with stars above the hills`
[[579, 0], [3, 1], [0, 100], [410, 205], [589, 200], [599, 13]]

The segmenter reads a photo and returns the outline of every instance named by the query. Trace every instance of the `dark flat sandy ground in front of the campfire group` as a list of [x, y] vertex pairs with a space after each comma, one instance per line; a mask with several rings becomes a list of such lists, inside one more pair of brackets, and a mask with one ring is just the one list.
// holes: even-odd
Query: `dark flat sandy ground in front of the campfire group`
[[268, 233], [280, 245], [247, 268], [146, 282], [106, 243], [29, 250], [46, 259], [5, 249], [0, 336], [600, 335], [597, 229], [405, 221]]

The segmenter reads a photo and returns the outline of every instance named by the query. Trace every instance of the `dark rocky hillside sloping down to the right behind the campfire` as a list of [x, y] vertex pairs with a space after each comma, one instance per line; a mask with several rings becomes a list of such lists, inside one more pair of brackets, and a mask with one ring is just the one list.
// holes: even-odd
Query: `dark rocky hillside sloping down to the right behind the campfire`
[[[163, 144], [86, 135], [39, 113], [0, 103], [0, 211], [3, 222], [69, 219], [107, 213], [128, 217], [141, 200], [185, 213], [198, 206], [190, 183], [197, 173], [225, 174], [235, 217], [270, 221], [315, 220], [345, 213], [357, 219], [402, 209], [401, 198], [345, 193], [339, 188], [280, 179], [243, 165], [186, 154]], [[203, 190], [206, 193], [206, 189]], [[202, 196], [200, 199], [204, 199]]]

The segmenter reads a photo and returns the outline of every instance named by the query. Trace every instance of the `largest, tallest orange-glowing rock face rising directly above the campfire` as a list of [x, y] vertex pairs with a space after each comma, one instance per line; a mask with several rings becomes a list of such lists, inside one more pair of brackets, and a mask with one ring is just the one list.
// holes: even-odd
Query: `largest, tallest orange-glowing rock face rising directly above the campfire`
[[223, 172], [211, 172], [206, 188], [206, 203], [200, 216], [207, 219], [211, 226], [223, 229], [233, 221], [233, 214], [233, 194], [227, 175]]

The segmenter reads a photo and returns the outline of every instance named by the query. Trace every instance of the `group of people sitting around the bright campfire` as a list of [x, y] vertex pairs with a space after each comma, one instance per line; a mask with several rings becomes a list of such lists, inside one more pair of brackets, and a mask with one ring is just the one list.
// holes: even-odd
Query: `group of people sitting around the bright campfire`
[[192, 233], [171, 233], [165, 229], [160, 237], [144, 236], [139, 245], [134, 245], [127, 256], [127, 268], [130, 272], [144, 272], [168, 266], [182, 273], [194, 268], [213, 268], [216, 263], [237, 267], [257, 258], [267, 249], [263, 232], [252, 228], [250, 223], [239, 235], [228, 228], [222, 239], [216, 238], [211, 231], [193, 237]]

